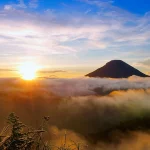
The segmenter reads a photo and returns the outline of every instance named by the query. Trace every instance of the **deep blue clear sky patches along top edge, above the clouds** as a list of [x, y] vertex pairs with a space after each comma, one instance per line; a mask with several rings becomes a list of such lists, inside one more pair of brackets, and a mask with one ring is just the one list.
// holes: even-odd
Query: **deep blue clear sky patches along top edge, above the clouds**
[[[85, 7], [89, 7], [87, 4], [83, 4], [82, 0], [24, 0], [23, 2], [28, 5], [34, 3], [37, 7], [37, 10], [45, 10], [45, 9], [62, 9], [62, 5], [71, 5], [71, 6], [79, 6], [84, 5]], [[100, 0], [97, 0], [100, 1]], [[83, 3], [82, 3], [83, 2]], [[107, 0], [103, 0], [103, 2], [108, 2]], [[125, 9], [129, 12], [135, 14], [145, 14], [150, 10], [150, 1], [149, 0], [114, 0], [111, 1], [114, 6], [117, 6], [121, 9]], [[19, 3], [19, 0], [1, 0], [1, 6], [4, 5], [12, 5]]]

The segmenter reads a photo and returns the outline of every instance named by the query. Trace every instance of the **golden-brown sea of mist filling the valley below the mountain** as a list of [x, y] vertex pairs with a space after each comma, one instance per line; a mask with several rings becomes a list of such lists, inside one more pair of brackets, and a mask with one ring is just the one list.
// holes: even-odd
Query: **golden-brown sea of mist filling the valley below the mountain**
[[[49, 116], [49, 140], [68, 138], [89, 150], [150, 148], [150, 78], [0, 80], [0, 127], [15, 112], [38, 127]], [[55, 133], [55, 134], [54, 134]]]

